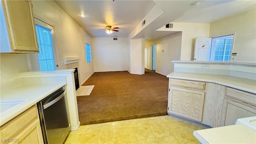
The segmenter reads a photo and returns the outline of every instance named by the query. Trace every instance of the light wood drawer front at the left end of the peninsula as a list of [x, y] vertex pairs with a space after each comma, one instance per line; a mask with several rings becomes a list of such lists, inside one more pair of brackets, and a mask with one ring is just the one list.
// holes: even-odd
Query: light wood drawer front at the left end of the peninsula
[[189, 80], [176, 80], [170, 79], [170, 85], [173, 86], [182, 86], [186, 88], [195, 88], [199, 90], [205, 90], [205, 82], [194, 82]]

